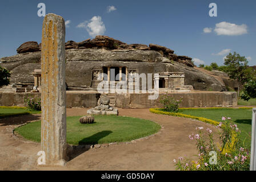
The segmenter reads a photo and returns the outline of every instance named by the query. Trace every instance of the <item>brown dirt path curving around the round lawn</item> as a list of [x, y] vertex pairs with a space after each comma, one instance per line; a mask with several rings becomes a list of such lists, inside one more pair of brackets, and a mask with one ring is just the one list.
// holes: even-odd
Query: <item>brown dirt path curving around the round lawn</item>
[[[67, 109], [67, 115], [85, 115], [87, 109]], [[65, 167], [37, 167], [40, 144], [14, 137], [12, 131], [25, 122], [40, 119], [40, 115], [23, 115], [0, 119], [0, 170], [174, 170], [173, 159], [197, 154], [188, 138], [195, 127], [214, 126], [187, 118], [158, 115], [149, 109], [119, 109], [119, 115], [150, 119], [164, 126], [152, 138], [131, 144], [85, 150]]]

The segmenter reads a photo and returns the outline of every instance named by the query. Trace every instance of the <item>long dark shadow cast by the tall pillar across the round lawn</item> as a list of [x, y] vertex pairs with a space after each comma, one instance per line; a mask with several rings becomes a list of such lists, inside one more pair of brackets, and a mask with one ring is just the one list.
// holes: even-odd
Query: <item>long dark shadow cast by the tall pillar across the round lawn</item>
[[93, 144], [97, 144], [101, 138], [104, 138], [111, 133], [113, 132], [106, 130], [91, 135], [90, 137], [83, 138], [78, 142], [78, 146], [73, 146], [72, 154], [69, 155], [69, 161], [83, 154], [83, 152], [89, 150], [90, 147], [93, 146]]

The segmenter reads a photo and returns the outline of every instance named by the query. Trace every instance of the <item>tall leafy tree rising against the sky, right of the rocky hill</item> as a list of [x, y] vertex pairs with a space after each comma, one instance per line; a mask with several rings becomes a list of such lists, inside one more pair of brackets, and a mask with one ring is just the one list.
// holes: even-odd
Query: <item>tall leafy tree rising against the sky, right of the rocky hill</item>
[[234, 52], [229, 53], [224, 60], [226, 71], [229, 77], [238, 82], [238, 93], [240, 87], [253, 78], [253, 69], [248, 66], [248, 61], [245, 56], [240, 56]]

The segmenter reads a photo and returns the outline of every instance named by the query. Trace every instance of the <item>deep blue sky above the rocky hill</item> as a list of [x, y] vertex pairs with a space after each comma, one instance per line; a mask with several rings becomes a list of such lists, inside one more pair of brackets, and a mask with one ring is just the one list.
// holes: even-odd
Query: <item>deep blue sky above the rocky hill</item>
[[[217, 4], [217, 17], [209, 16], [212, 2]], [[198, 64], [222, 65], [223, 57], [236, 51], [247, 57], [249, 65], [256, 65], [253, 0], [1, 1], [0, 57], [15, 55], [24, 42], [41, 43], [43, 17], [37, 15], [38, 3], [45, 3], [46, 14], [69, 20], [66, 41], [81, 42], [100, 33], [128, 44], [166, 46]]]

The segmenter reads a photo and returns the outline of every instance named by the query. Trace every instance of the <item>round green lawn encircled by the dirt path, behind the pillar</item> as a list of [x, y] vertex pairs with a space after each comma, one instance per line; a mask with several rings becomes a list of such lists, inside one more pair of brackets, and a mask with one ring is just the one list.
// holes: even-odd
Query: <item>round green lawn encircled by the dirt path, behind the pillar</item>
[[[79, 116], [67, 117], [67, 143], [97, 144], [126, 142], [157, 133], [161, 126], [145, 119], [117, 115], [95, 115], [95, 123], [81, 124]], [[41, 121], [15, 129], [19, 135], [35, 142], [41, 141]]]

